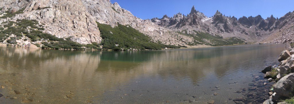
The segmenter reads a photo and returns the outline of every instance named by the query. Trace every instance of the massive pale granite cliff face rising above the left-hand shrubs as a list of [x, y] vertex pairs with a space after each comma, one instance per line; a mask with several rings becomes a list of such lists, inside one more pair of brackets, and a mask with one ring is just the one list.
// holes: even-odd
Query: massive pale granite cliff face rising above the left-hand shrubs
[[[64, 0], [4, 0], [1, 3], [2, 13], [9, 10], [18, 11], [25, 8], [24, 13], [12, 18], [1, 19], [1, 22], [16, 19], [38, 20], [45, 24], [45, 32], [59, 38], [71, 37], [81, 44], [100, 42], [101, 37], [95, 18], [91, 16], [81, 1]], [[13, 4], [13, 5], [10, 5]]]

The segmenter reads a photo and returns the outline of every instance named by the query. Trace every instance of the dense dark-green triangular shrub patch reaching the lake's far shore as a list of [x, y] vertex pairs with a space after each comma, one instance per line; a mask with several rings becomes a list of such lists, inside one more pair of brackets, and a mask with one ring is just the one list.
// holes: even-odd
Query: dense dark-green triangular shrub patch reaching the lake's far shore
[[148, 36], [132, 28], [130, 25], [118, 24], [116, 27], [100, 24], [97, 22], [101, 32], [101, 45], [106, 49], [122, 50], [122, 49], [154, 49], [162, 48], [181, 48], [181, 46], [164, 45], [155, 43]]

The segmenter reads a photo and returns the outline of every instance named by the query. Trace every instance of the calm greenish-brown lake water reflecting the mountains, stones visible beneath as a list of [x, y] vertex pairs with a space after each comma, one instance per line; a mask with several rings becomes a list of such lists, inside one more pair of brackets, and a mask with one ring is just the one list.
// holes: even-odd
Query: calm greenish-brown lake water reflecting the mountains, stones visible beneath
[[278, 55], [287, 49], [285, 46], [266, 44], [160, 51], [0, 47], [0, 86], [3, 86], [0, 93], [4, 95], [0, 102], [128, 104], [215, 100], [215, 104], [230, 104], [234, 102], [229, 98], [247, 94], [236, 91], [264, 80], [259, 72], [268, 65], [277, 64]]

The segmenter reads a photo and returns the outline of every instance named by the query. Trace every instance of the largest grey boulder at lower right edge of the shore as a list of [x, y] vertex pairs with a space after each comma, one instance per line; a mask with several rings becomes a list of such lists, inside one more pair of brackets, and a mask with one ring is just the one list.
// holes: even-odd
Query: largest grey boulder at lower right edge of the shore
[[288, 74], [281, 78], [276, 84], [274, 84], [273, 99], [277, 100], [280, 96], [292, 97], [294, 91], [294, 73]]

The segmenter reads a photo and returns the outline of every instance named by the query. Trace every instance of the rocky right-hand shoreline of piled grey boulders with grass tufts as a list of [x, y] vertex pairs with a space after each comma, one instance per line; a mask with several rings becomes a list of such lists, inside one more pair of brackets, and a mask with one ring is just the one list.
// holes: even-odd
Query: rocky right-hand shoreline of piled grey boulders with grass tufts
[[[262, 70], [264, 78], [273, 82], [267, 90], [270, 97], [263, 104], [288, 104], [294, 96], [294, 50], [284, 50], [279, 58], [279, 65], [270, 65]], [[288, 99], [288, 100], [287, 100]]]

